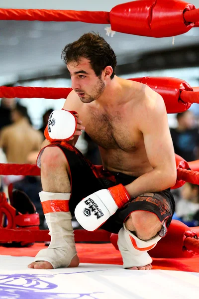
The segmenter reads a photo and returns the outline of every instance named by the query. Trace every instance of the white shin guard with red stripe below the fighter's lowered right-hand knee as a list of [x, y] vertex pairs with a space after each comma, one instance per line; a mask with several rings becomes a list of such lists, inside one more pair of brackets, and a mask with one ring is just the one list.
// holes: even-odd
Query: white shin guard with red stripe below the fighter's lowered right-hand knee
[[161, 237], [158, 235], [148, 241], [140, 240], [124, 224], [118, 233], [117, 241], [123, 268], [144, 267], [151, 264], [153, 260], [147, 251], [154, 248], [160, 239]]

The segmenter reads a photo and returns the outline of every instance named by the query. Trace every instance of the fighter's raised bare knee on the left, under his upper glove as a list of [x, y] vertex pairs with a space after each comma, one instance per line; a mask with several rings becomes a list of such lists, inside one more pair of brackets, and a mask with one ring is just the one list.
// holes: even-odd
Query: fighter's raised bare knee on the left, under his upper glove
[[68, 162], [63, 151], [58, 147], [47, 147], [41, 156], [42, 171], [57, 169], [57, 167], [68, 167]]

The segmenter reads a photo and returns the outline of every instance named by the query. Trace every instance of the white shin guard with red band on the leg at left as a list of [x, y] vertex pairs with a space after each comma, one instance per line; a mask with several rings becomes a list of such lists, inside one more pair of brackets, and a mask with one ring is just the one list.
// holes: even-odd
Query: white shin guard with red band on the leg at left
[[[47, 261], [53, 268], [68, 267], [77, 254], [71, 213], [68, 206], [70, 193], [39, 193], [51, 236], [50, 245], [36, 255], [34, 261]], [[67, 211], [68, 210], [68, 211]]]

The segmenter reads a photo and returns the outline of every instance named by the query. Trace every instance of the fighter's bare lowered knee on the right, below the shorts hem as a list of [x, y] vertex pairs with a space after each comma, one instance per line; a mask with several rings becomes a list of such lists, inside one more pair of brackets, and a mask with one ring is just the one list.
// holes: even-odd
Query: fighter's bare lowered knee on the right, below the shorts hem
[[157, 235], [162, 224], [158, 217], [147, 211], [132, 212], [125, 222], [126, 228], [141, 240], [149, 240]]

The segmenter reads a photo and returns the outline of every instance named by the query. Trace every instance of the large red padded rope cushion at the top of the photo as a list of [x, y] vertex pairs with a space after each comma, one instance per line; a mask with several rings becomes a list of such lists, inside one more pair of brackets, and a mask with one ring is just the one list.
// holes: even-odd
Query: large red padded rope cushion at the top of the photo
[[117, 32], [168, 37], [188, 32], [194, 23], [187, 23], [184, 12], [196, 7], [181, 0], [137, 0], [122, 3], [110, 11], [111, 29]]

